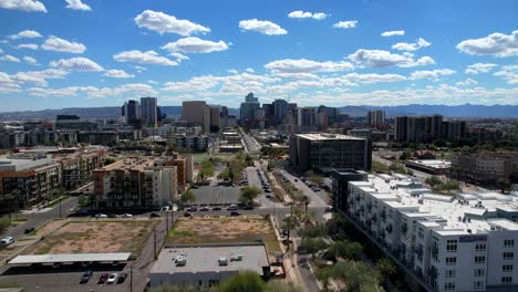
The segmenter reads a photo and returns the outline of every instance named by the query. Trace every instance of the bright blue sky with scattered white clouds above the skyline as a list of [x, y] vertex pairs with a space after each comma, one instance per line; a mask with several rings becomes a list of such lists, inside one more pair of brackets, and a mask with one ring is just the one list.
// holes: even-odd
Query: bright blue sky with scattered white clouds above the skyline
[[0, 112], [518, 104], [518, 1], [0, 0]]

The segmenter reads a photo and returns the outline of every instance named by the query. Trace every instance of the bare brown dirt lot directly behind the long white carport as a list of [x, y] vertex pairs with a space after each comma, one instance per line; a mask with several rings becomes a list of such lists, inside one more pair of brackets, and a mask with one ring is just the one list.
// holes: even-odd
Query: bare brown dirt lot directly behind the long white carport
[[42, 237], [27, 254], [132, 252], [138, 254], [157, 220], [73, 220]]

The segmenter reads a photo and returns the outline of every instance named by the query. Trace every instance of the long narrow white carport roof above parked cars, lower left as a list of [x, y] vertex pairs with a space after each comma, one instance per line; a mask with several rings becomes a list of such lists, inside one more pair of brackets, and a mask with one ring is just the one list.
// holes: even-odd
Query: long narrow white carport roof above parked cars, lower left
[[18, 255], [9, 264], [55, 263], [55, 262], [114, 262], [127, 261], [130, 252], [118, 253], [61, 253]]

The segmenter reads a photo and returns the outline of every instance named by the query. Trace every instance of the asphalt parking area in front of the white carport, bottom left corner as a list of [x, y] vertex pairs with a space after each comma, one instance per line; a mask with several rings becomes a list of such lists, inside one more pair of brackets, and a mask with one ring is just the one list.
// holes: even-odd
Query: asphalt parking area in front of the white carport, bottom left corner
[[[81, 284], [83, 273], [93, 270], [92, 278], [86, 283]], [[27, 292], [70, 292], [70, 291], [130, 291], [130, 267], [111, 264], [95, 264], [91, 268], [81, 268], [81, 265], [63, 265], [61, 268], [52, 268], [51, 265], [30, 268], [30, 267], [13, 267], [4, 271], [0, 277], [1, 283], [23, 283]], [[128, 278], [123, 283], [114, 284], [97, 284], [97, 281], [103, 273], [117, 273], [118, 275], [126, 272]], [[50, 279], [52, 279], [50, 281]]]

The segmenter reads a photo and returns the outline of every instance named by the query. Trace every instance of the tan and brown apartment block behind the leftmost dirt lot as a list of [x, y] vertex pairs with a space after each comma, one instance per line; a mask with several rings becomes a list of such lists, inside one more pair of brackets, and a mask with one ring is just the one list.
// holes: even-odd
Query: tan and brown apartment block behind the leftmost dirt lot
[[93, 204], [100, 209], [151, 209], [177, 196], [177, 167], [169, 157], [126, 158], [93, 171]]

